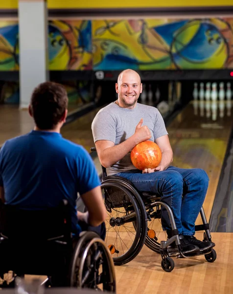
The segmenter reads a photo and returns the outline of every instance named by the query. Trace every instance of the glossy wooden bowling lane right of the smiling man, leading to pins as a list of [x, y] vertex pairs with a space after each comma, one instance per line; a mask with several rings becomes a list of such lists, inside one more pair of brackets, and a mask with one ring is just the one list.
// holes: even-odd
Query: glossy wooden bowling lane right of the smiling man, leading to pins
[[232, 103], [223, 114], [219, 106], [217, 102], [209, 109], [200, 101], [191, 101], [167, 126], [174, 153], [172, 165], [201, 168], [208, 173], [210, 182], [204, 203], [208, 220], [233, 124]]

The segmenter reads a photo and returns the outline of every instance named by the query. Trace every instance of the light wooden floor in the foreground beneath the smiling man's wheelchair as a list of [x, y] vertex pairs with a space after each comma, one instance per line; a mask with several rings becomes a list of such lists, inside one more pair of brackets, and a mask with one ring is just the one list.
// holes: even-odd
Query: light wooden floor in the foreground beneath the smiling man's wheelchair
[[[197, 233], [202, 238], [202, 233]], [[161, 256], [144, 246], [130, 263], [115, 267], [117, 294], [232, 294], [233, 233], [212, 233], [217, 259], [203, 255], [176, 259], [175, 268], [165, 272]]]

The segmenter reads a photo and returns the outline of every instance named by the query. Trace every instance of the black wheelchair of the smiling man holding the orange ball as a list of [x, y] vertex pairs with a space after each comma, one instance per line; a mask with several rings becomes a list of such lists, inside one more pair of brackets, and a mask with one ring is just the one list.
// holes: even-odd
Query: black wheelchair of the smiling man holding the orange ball
[[[92, 147], [91, 151], [96, 151], [96, 147]], [[102, 167], [101, 188], [104, 189], [105, 204], [106, 204], [106, 208], [108, 211], [110, 211], [111, 208], [108, 207], [108, 203], [107, 203], [108, 196], [106, 195], [106, 189], [111, 187], [111, 185], [113, 185], [115, 187], [118, 185], [118, 188], [121, 189], [124, 193], [126, 193], [126, 191], [128, 191], [128, 193], [133, 194], [135, 196], [135, 198], [137, 199], [137, 201], [139, 203], [139, 208], [140, 208], [140, 210], [142, 210], [141, 215], [142, 215], [142, 217], [145, 218], [144, 220], [142, 220], [142, 223], [147, 223], [148, 221], [151, 221], [151, 217], [153, 217], [155, 219], [159, 218], [158, 217], [159, 214], [157, 212], [150, 214], [150, 211], [153, 211], [154, 207], [156, 207], [158, 209], [158, 207], [163, 206], [168, 213], [168, 217], [169, 217], [169, 220], [171, 223], [171, 228], [172, 228], [172, 233], [173, 233], [173, 236], [171, 238], [169, 238], [167, 241], [161, 241], [160, 246], [158, 246], [158, 243], [155, 246], [153, 244], [153, 240], [150, 240], [150, 237], [148, 237], [147, 231], [145, 230], [142, 233], [142, 235], [143, 234], [144, 235], [141, 238], [140, 245], [137, 244], [138, 247], [132, 251], [132, 254], [130, 256], [127, 256], [127, 258], [124, 258], [124, 255], [126, 256], [126, 254], [123, 254], [121, 256], [122, 258], [120, 258], [120, 257], [113, 258], [115, 265], [122, 265], [122, 264], [128, 263], [129, 261], [134, 259], [139, 254], [143, 244], [145, 244], [147, 247], [149, 247], [153, 251], [161, 254], [161, 257], [162, 257], [161, 266], [162, 266], [163, 270], [165, 270], [165, 271], [172, 271], [175, 267], [174, 261], [169, 256], [169, 251], [168, 251], [168, 247], [173, 242], [175, 242], [178, 247], [179, 253], [177, 254], [177, 258], [190, 257], [188, 255], [183, 254], [181, 251], [181, 243], [180, 243], [180, 239], [179, 239], [179, 234], [178, 234], [178, 230], [176, 228], [176, 224], [175, 224], [175, 220], [174, 220], [174, 216], [173, 216], [171, 208], [166, 203], [161, 201], [160, 197], [157, 197], [156, 195], [153, 195], [152, 193], [148, 193], [148, 192], [144, 193], [144, 192], [138, 191], [133, 186], [133, 184], [130, 181], [128, 181], [127, 179], [120, 177], [120, 176], [115, 176], [115, 175], [107, 176], [106, 169], [103, 166], [101, 166], [101, 167]], [[122, 188], [126, 189], [126, 191]], [[149, 213], [147, 211], [149, 211]], [[116, 220], [114, 220], [114, 218], [112, 218], [110, 220], [110, 225], [111, 226], [116, 226], [116, 225], [120, 226], [120, 225], [127, 223], [127, 222], [135, 222], [136, 215], [137, 215], [137, 213], [135, 211], [133, 211], [133, 212], [131, 211], [126, 216], [121, 217], [121, 218], [116, 218]], [[203, 241], [210, 241], [211, 242], [210, 227], [209, 227], [209, 223], [206, 219], [206, 215], [205, 215], [203, 207], [201, 208], [200, 215], [201, 215], [201, 219], [202, 219], [203, 224], [195, 225], [195, 231], [205, 230]], [[135, 228], [135, 230], [136, 230], [136, 228]], [[111, 250], [111, 246], [112, 245], [110, 245], [110, 250]], [[208, 262], [214, 262], [216, 259], [216, 252], [212, 248], [209, 251], [206, 251], [205, 253], [195, 254], [195, 256], [203, 255], [203, 254], [205, 255], [205, 258]]]

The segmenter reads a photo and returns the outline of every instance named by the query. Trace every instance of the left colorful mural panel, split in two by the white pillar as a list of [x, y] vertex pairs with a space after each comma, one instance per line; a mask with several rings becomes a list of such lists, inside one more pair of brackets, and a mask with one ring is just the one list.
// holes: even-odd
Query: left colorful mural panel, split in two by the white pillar
[[[0, 70], [19, 69], [17, 22], [0, 22]], [[91, 21], [49, 21], [48, 55], [50, 70], [92, 69]]]

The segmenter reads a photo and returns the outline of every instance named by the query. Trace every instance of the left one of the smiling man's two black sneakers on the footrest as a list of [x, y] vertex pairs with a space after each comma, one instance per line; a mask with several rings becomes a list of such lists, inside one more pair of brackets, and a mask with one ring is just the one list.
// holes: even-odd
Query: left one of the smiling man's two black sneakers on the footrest
[[[179, 238], [180, 238], [180, 242], [181, 242], [182, 253], [189, 255], [189, 254], [200, 252], [199, 247], [197, 245], [190, 244], [183, 235], [179, 235]], [[178, 250], [175, 242], [172, 243], [171, 246], [168, 246], [167, 249], [168, 249], [169, 256], [179, 255], [179, 250]]]

